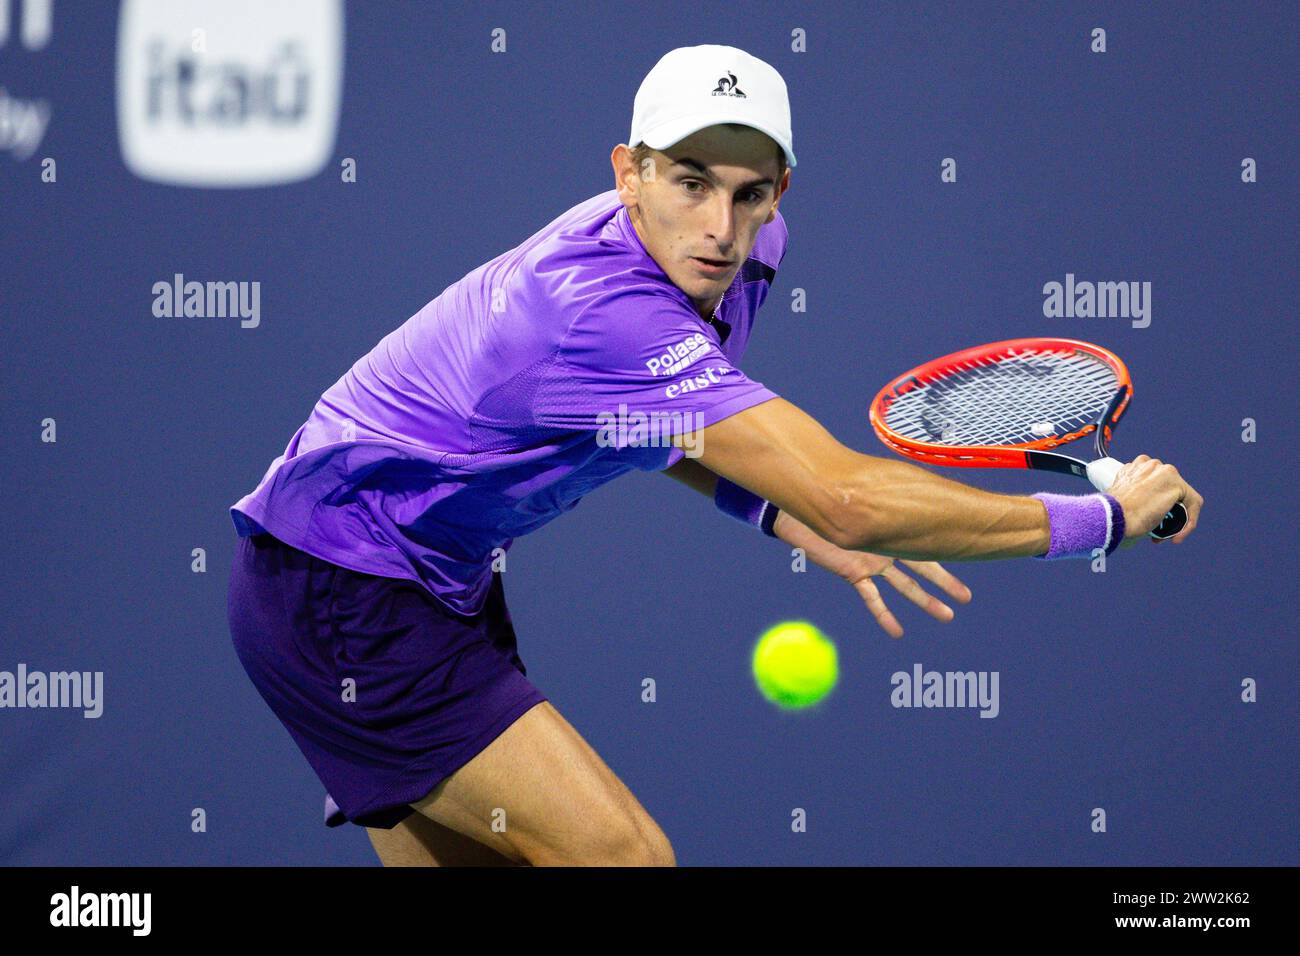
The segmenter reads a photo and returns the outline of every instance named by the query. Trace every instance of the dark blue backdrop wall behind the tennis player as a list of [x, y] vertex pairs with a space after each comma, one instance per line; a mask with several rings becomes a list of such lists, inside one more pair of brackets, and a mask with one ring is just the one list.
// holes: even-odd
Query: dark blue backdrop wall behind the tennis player
[[[888, 454], [866, 410], [889, 376], [1095, 341], [1136, 382], [1117, 454], [1174, 462], [1202, 523], [1105, 572], [952, 564], [972, 604], [941, 624], [890, 592], [892, 640], [845, 584], [634, 473], [512, 548], [529, 676], [681, 864], [1297, 862], [1294, 4], [350, 3], [332, 26], [326, 3], [277, 49], [200, 0], [190, 21], [58, 0], [48, 30], [48, 4], [0, 3], [0, 671], [103, 674], [99, 717], [0, 709], [0, 861], [377, 862], [360, 829], [322, 826], [234, 656], [228, 509], [378, 338], [612, 186], [659, 56], [725, 43], [785, 77], [800, 159], [746, 372]], [[187, 79], [191, 21], [247, 100]], [[257, 146], [295, 111], [309, 134]], [[257, 148], [222, 157], [204, 124]], [[176, 273], [259, 282], [259, 321], [155, 315]], [[1067, 273], [1150, 282], [1149, 324], [1045, 317]], [[790, 715], [749, 652], [805, 617], [841, 683]], [[997, 671], [997, 718], [893, 708], [915, 663]]]

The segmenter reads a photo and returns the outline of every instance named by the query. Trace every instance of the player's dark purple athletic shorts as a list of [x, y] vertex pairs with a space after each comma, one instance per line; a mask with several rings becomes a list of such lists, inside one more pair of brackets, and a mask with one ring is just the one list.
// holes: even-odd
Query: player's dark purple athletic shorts
[[235, 550], [229, 614], [239, 662], [325, 784], [326, 826], [391, 830], [546, 700], [525, 676], [500, 574], [465, 617], [417, 581], [254, 535]]

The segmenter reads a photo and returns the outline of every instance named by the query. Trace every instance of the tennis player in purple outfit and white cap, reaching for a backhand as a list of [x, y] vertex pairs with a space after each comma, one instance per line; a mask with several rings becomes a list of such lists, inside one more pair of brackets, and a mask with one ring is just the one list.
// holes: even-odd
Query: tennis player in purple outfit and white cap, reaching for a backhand
[[838, 444], [740, 371], [785, 255], [785, 83], [723, 46], [642, 82], [615, 189], [478, 267], [330, 386], [231, 509], [240, 662], [386, 865], [671, 865], [645, 808], [528, 680], [494, 564], [629, 471], [806, 549], [880, 626], [939, 620], [936, 559], [1089, 555], [1197, 496], [1140, 457], [1109, 494], [1015, 497]]

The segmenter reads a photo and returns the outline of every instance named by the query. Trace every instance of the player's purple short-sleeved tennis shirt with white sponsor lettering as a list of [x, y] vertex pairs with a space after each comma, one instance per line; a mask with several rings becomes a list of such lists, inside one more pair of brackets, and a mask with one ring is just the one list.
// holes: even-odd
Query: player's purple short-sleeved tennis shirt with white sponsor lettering
[[675, 464], [671, 436], [776, 397], [737, 363], [786, 239], [777, 212], [707, 323], [614, 190], [578, 203], [334, 382], [231, 506], [235, 529], [477, 613], [516, 537]]

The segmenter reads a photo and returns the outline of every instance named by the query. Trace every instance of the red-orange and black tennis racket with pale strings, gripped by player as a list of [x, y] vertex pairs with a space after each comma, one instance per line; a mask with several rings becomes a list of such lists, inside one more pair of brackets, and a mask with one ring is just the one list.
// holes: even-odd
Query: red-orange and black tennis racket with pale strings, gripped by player
[[[871, 427], [901, 455], [962, 468], [1040, 468], [1105, 492], [1123, 462], [1106, 454], [1132, 381], [1119, 358], [1072, 338], [1011, 338], [906, 372], [871, 402]], [[1049, 449], [1093, 436], [1091, 460]], [[1182, 502], [1150, 532], [1173, 537]]]

